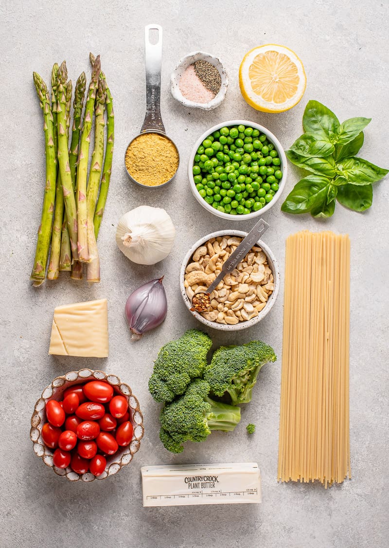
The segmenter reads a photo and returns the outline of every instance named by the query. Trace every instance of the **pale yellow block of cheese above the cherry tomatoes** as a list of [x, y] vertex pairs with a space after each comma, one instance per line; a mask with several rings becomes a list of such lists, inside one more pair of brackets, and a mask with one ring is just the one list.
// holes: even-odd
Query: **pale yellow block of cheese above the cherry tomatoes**
[[49, 354], [106, 358], [107, 299], [57, 306], [54, 309]]

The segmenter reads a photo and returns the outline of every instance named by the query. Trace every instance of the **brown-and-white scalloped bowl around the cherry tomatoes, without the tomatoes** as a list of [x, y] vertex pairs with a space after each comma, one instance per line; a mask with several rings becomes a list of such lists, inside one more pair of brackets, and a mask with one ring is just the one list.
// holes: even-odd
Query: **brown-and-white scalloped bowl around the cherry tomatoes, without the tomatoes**
[[[107, 383], [113, 386], [113, 390], [117, 394], [123, 395], [128, 399], [128, 406], [131, 412], [131, 422], [134, 426], [134, 436], [131, 443], [127, 447], [119, 448], [115, 455], [107, 456], [107, 466], [104, 472], [98, 477], [87, 472], [79, 475], [70, 467], [65, 469], [57, 468], [53, 464], [53, 451], [45, 446], [42, 439], [42, 427], [46, 422], [45, 404], [49, 399], [59, 400], [62, 393], [70, 386], [85, 384], [89, 380], [106, 380]], [[34, 452], [39, 456], [46, 466], [49, 466], [59, 476], [65, 476], [70, 481], [85, 481], [90, 482], [94, 479], [105, 479], [108, 476], [116, 474], [121, 468], [129, 464], [133, 459], [134, 454], [140, 447], [140, 440], [144, 435], [143, 416], [139, 409], [138, 399], [131, 392], [127, 384], [121, 382], [116, 375], [109, 375], [102, 371], [93, 371], [91, 369], [81, 369], [81, 371], [71, 371], [53, 380], [52, 384], [45, 387], [42, 396], [35, 404], [35, 409], [31, 417], [30, 439], [33, 444]]]

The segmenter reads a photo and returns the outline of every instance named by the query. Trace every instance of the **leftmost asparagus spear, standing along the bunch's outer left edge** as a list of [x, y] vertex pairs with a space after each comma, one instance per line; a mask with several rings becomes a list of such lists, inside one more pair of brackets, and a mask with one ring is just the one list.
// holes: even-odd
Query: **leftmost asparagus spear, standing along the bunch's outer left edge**
[[33, 73], [33, 81], [43, 111], [43, 129], [46, 154], [46, 179], [42, 207], [41, 225], [38, 229], [38, 240], [35, 259], [32, 267], [31, 279], [40, 285], [44, 281], [47, 259], [49, 255], [50, 236], [54, 214], [56, 157], [54, 146], [53, 113], [50, 106], [50, 97], [47, 85], [41, 76]]

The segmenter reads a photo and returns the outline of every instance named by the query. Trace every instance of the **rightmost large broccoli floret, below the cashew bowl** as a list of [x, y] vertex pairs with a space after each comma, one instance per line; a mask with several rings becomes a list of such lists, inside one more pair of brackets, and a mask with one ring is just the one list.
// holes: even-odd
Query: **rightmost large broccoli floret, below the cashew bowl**
[[227, 392], [233, 405], [248, 403], [261, 367], [276, 359], [272, 347], [262, 341], [221, 346], [205, 368], [204, 379], [216, 396], [224, 396]]

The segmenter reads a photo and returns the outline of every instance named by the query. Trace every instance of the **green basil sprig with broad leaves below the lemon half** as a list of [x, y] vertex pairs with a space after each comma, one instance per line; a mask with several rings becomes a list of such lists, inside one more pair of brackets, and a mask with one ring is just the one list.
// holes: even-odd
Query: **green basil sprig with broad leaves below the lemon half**
[[291, 163], [307, 175], [289, 193], [282, 211], [330, 217], [335, 200], [354, 211], [373, 203], [372, 182], [388, 173], [356, 156], [363, 145], [363, 129], [371, 118], [349, 118], [340, 123], [332, 111], [318, 101], [309, 101], [302, 117], [303, 133], [286, 151]]

